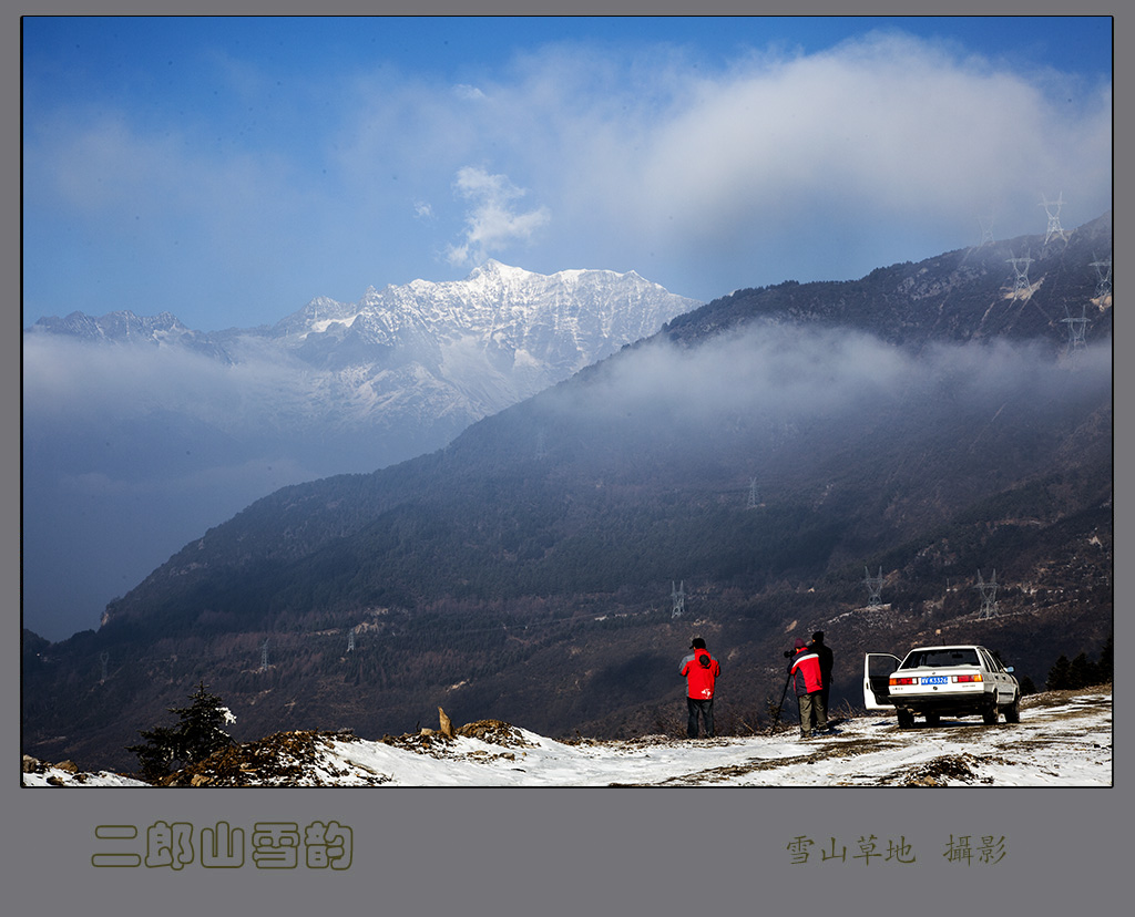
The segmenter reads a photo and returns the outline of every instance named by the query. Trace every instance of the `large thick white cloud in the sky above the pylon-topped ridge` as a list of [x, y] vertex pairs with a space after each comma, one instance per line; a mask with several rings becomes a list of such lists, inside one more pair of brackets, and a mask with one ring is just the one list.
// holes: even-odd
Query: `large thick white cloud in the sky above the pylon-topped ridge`
[[1046, 184], [1101, 199], [1109, 111], [1068, 108], [1020, 76], [894, 36], [758, 61], [675, 100], [649, 147], [619, 164], [620, 204], [644, 231], [723, 245], [800, 226], [821, 246], [825, 226], [957, 228], [991, 198], [1027, 231]]

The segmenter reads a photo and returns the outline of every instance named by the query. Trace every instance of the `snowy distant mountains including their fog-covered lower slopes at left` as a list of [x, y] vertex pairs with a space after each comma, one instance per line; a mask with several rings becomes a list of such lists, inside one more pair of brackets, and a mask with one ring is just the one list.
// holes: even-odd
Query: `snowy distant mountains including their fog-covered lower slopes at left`
[[254, 499], [440, 448], [697, 305], [633, 272], [490, 261], [461, 281], [320, 297], [266, 328], [42, 319], [24, 333], [25, 611], [85, 609], [66, 634], [93, 627]]

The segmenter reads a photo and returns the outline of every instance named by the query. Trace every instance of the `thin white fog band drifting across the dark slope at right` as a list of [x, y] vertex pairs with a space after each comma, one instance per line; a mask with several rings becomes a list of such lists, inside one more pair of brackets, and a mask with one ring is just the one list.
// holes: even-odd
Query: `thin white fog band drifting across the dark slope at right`
[[[1110, 394], [1111, 348], [1098, 343], [1071, 360], [1049, 342], [993, 340], [916, 355], [849, 329], [755, 323], [696, 348], [657, 338], [579, 379], [540, 399], [553, 427], [586, 418], [624, 438], [669, 428], [679, 440], [743, 428], [759, 444], [762, 424], [866, 428], [896, 410], [992, 417], [1007, 402], [1059, 411]], [[905, 425], [920, 418], [930, 419]]]

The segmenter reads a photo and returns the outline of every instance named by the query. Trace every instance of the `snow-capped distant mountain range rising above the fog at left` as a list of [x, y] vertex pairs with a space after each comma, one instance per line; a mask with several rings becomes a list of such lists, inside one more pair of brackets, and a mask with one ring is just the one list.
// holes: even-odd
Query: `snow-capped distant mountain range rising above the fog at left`
[[270, 328], [202, 332], [169, 313], [124, 311], [41, 319], [25, 333], [183, 349], [228, 366], [271, 363], [291, 376], [291, 401], [204, 418], [218, 426], [283, 414], [371, 435], [437, 431], [445, 441], [698, 305], [634, 272], [548, 277], [489, 261], [460, 281], [371, 287], [358, 303], [318, 297]]

